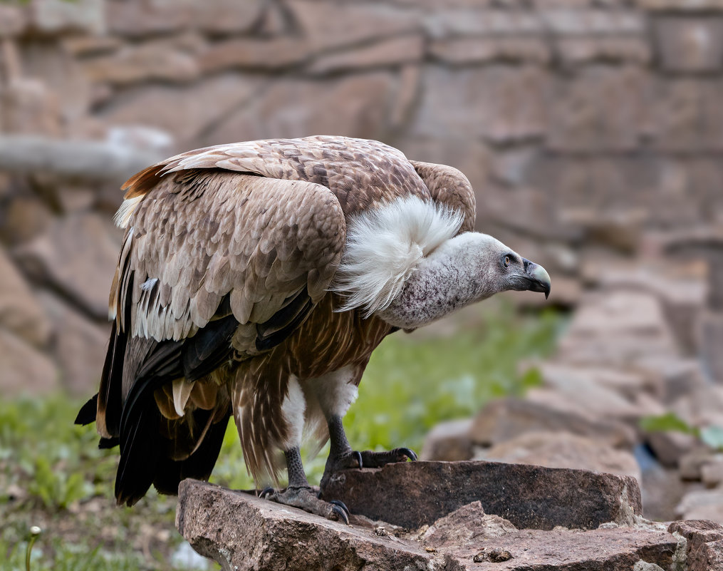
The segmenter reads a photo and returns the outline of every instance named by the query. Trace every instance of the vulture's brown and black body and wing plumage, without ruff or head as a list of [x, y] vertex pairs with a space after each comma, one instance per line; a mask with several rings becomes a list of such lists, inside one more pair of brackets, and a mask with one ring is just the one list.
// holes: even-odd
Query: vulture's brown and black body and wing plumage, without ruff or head
[[[273, 475], [289, 376], [351, 365], [359, 382], [391, 328], [333, 312], [350, 217], [416, 195], [461, 211], [462, 231], [474, 226], [461, 173], [368, 140], [218, 145], [150, 166], [124, 188], [128, 228], [94, 420], [108, 442], [121, 439], [116, 496], [129, 504], [150, 483], [173, 491], [185, 475], [208, 478], [216, 426], [231, 413], [249, 470]], [[144, 468], [144, 454], [161, 460]]]

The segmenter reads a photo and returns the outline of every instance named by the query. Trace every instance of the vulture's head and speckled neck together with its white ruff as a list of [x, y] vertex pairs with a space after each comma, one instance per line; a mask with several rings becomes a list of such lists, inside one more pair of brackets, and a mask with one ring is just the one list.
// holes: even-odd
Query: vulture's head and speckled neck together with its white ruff
[[461, 223], [459, 213], [414, 197], [350, 221], [334, 286], [346, 300], [339, 310], [416, 329], [499, 292], [549, 295], [542, 266], [488, 234], [458, 234]]

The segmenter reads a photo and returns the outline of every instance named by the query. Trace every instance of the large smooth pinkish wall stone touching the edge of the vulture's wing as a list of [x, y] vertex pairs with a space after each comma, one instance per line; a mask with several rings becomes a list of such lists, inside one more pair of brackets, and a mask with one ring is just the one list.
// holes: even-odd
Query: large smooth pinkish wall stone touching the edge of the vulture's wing
[[48, 282], [90, 315], [105, 319], [118, 251], [110, 225], [97, 214], [82, 213], [54, 221], [48, 232], [17, 248], [17, 258], [33, 279]]

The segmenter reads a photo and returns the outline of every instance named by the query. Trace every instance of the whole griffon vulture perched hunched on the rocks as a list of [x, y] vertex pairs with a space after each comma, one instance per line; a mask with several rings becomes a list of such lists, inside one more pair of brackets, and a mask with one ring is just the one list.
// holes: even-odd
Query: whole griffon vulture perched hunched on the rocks
[[120, 444], [116, 499], [208, 479], [233, 415], [269, 499], [347, 520], [309, 486], [304, 428], [335, 470], [414, 460], [355, 452], [341, 419], [388, 334], [509, 289], [549, 293], [547, 271], [473, 232], [474, 193], [450, 166], [372, 140], [218, 145], [124, 185], [100, 389], [77, 423]]

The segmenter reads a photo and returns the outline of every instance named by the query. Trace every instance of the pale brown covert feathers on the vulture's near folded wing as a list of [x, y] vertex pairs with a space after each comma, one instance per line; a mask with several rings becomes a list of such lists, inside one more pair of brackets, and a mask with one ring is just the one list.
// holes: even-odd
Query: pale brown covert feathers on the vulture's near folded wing
[[133, 214], [111, 315], [130, 303], [121, 328], [179, 340], [228, 295], [241, 325], [264, 323], [304, 289], [313, 303], [325, 295], [345, 241], [341, 206], [322, 185], [218, 169], [170, 174]]

